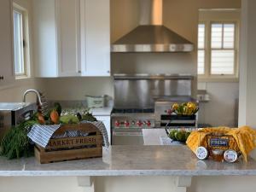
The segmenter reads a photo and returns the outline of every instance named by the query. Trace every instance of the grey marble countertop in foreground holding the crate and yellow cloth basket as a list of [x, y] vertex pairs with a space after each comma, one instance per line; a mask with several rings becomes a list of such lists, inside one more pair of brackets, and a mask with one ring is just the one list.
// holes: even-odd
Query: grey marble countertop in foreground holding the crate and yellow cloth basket
[[0, 176], [218, 176], [256, 175], [247, 164], [197, 160], [187, 146], [112, 146], [103, 158], [40, 165], [35, 158], [0, 158]]

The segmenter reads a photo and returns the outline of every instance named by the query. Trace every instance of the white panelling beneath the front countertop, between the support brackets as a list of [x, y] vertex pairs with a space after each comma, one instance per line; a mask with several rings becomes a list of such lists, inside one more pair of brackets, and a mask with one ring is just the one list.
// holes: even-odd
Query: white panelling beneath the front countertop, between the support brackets
[[[96, 192], [175, 192], [173, 177], [96, 177]], [[254, 192], [256, 177], [193, 177], [188, 192]], [[218, 183], [218, 184], [217, 184]], [[92, 192], [76, 177], [0, 177], [0, 192]]]

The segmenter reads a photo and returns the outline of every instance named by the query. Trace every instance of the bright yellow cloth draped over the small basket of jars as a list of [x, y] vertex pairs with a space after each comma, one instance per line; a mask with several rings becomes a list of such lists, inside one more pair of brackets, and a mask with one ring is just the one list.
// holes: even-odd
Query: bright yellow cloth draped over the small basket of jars
[[241, 151], [244, 160], [247, 162], [247, 155], [256, 148], [256, 130], [249, 126], [242, 126], [240, 128], [229, 127], [213, 127], [204, 128], [200, 131], [193, 131], [187, 139], [188, 147], [195, 153], [199, 146], [207, 147], [207, 134], [211, 132], [222, 133], [230, 135], [235, 138], [235, 143], [230, 140], [230, 148]]

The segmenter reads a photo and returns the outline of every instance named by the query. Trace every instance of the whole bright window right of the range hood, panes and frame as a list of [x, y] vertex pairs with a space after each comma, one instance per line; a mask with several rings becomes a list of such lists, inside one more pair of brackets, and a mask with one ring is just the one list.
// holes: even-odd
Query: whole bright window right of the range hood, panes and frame
[[237, 79], [236, 21], [206, 21], [198, 25], [199, 79]]

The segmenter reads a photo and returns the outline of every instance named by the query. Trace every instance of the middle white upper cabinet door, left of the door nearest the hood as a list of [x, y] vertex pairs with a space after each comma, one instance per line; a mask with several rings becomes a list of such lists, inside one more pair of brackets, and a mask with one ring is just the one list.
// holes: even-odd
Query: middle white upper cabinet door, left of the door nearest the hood
[[79, 76], [80, 68], [80, 1], [56, 0], [59, 76]]

